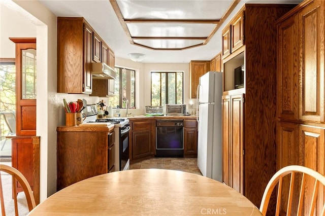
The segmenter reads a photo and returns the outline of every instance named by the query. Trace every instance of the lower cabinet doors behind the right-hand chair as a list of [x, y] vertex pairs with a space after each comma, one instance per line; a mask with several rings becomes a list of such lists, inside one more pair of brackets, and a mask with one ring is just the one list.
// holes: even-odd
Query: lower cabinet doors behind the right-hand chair
[[[316, 170], [322, 175], [324, 169], [324, 136], [325, 127], [312, 125], [302, 125], [298, 123], [279, 122], [278, 123], [278, 148], [277, 148], [277, 166], [278, 169], [289, 165], [301, 165]], [[295, 186], [293, 199], [293, 214], [297, 214], [298, 192], [301, 184], [301, 176], [298, 177], [298, 184]], [[283, 179], [282, 197], [287, 197], [289, 193], [289, 178]], [[310, 186], [308, 186], [310, 185]], [[312, 188], [313, 182], [308, 182], [305, 188]], [[320, 190], [318, 197], [323, 197], [325, 192]], [[306, 196], [305, 202], [310, 203], [310, 196]], [[323, 200], [317, 201], [316, 215], [320, 215], [320, 206]], [[281, 213], [286, 212], [287, 201], [284, 199], [281, 203]], [[303, 215], [307, 215], [308, 208], [304, 207]]]

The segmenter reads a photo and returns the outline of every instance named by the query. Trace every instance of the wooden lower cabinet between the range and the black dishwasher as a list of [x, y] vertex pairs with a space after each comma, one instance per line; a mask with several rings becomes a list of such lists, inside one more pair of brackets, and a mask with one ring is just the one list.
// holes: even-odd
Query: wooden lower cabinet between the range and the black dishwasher
[[153, 156], [155, 154], [155, 120], [130, 121], [130, 161]]

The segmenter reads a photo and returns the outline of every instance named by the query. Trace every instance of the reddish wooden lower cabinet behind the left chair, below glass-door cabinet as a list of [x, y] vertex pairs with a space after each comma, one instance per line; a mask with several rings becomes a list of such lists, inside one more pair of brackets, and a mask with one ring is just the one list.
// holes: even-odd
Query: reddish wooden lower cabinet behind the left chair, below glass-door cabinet
[[[27, 179], [37, 204], [40, 203], [40, 137], [12, 137], [12, 167]], [[23, 189], [16, 181], [17, 193]], [[13, 196], [15, 196], [13, 194]]]

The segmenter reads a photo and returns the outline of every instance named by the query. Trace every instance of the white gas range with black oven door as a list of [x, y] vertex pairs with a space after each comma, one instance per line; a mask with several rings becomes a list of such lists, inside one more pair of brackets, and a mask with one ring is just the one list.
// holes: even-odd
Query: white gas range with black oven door
[[114, 124], [115, 132], [115, 170], [129, 169], [129, 121], [126, 118], [97, 119], [96, 105], [87, 105], [85, 122]]

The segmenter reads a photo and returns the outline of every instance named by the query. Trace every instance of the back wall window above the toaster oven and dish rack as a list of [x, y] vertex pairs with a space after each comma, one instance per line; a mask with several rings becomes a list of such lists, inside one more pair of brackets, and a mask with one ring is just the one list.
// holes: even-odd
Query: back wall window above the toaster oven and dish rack
[[151, 72], [151, 105], [183, 104], [183, 72]]

